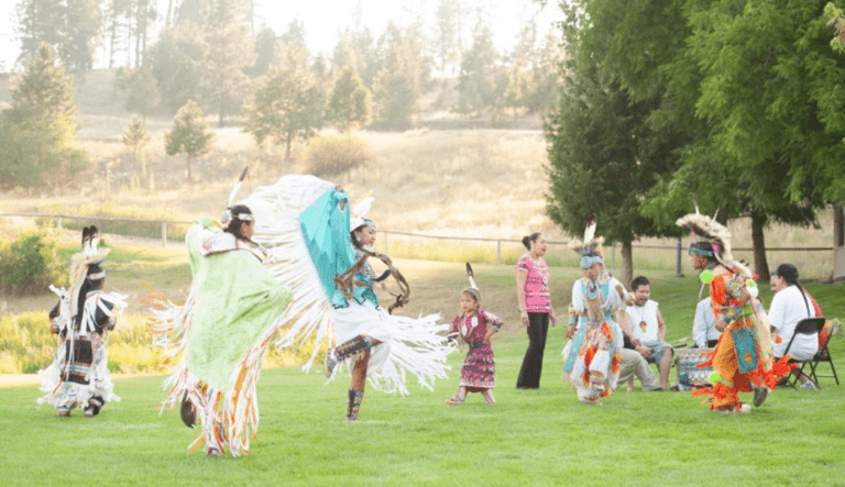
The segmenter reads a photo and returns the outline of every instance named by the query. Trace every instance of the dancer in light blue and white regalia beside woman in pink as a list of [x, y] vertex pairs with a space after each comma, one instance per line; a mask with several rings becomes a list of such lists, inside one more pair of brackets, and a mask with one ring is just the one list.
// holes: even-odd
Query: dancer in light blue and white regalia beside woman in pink
[[613, 312], [626, 300], [622, 285], [602, 272], [604, 239], [594, 235], [593, 217], [588, 221], [583, 243], [570, 243], [581, 255], [584, 277], [572, 287], [569, 309], [572, 339], [563, 347], [563, 376], [578, 390], [578, 398], [588, 403], [601, 401], [616, 388], [623, 337]]

